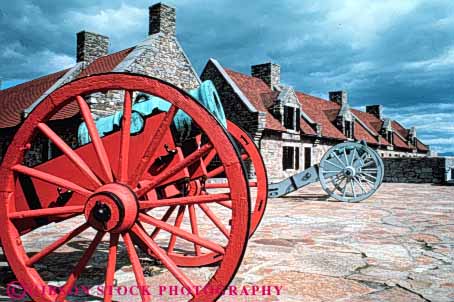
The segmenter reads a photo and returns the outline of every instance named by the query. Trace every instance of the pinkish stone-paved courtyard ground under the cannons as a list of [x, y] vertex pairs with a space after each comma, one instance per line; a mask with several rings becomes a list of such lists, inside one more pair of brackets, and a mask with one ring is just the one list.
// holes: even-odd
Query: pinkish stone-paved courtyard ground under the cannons
[[[47, 228], [42, 241], [32, 237], [29, 244], [45, 246], [53, 234]], [[88, 234], [72, 242], [57, 257], [69, 265], [89, 238]], [[96, 254], [84, 284], [102, 283], [106, 247]], [[281, 294], [272, 290], [271, 296], [225, 296], [221, 301], [454, 301], [453, 258], [454, 187], [383, 184], [369, 200], [347, 204], [326, 200], [314, 184], [269, 200], [232, 282], [249, 290], [252, 285], [282, 286]], [[119, 263], [118, 283], [132, 285], [127, 259]], [[2, 265], [0, 295], [5, 295], [4, 284], [14, 277]], [[69, 267], [43, 265], [49, 267], [50, 279], [65, 275]], [[209, 275], [211, 270], [203, 268], [199, 274]], [[148, 263], [147, 275], [148, 284], [170, 284], [168, 272], [153, 263]]]

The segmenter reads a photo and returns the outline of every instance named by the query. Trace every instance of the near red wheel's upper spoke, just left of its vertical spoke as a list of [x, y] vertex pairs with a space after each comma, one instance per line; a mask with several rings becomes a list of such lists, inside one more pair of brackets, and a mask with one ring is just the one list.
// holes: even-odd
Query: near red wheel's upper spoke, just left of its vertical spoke
[[99, 136], [98, 129], [96, 128], [95, 121], [91, 115], [90, 107], [83, 97], [80, 95], [76, 96], [77, 103], [79, 104], [80, 112], [84, 118], [85, 124], [87, 125], [88, 134], [90, 135], [93, 147], [96, 151], [96, 156], [98, 157], [99, 162], [101, 163], [102, 170], [107, 177], [107, 183], [113, 182], [112, 168], [110, 166], [109, 157], [107, 156], [106, 148], [101, 141]]

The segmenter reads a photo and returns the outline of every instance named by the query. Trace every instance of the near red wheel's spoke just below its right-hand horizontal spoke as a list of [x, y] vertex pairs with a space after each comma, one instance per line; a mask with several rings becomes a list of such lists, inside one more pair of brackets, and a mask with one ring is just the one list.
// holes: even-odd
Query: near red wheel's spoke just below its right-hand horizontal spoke
[[156, 218], [153, 218], [151, 216], [148, 216], [146, 214], [139, 214], [139, 219], [142, 221], [142, 222], [145, 222], [147, 224], [151, 224], [151, 225], [154, 225], [154, 226], [157, 226], [159, 227], [160, 229], [163, 229], [169, 233], [171, 233], [172, 235], [176, 235], [178, 237], [181, 237], [187, 241], [190, 241], [190, 242], [193, 242], [197, 245], [200, 245], [200, 246], [203, 246], [207, 249], [210, 249], [214, 252], [217, 252], [217, 253], [220, 253], [222, 255], [224, 255], [225, 253], [225, 250], [222, 246], [210, 241], [210, 240], [207, 240], [207, 239], [204, 239], [202, 237], [200, 237], [199, 235], [196, 235], [196, 234], [192, 234], [192, 233], [189, 233], [185, 230], [182, 230], [179, 225], [177, 226], [177, 223], [175, 223], [175, 226], [171, 225], [171, 224], [168, 224], [168, 223], [165, 223], [159, 219], [156, 219]]

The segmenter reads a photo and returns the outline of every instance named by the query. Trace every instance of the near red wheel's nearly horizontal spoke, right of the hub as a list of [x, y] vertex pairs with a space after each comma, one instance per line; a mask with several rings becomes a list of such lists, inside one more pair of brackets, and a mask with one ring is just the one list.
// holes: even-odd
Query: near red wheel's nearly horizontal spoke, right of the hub
[[230, 200], [230, 194], [208, 194], [198, 196], [185, 196], [159, 200], [139, 201], [140, 209], [152, 209], [168, 206], [182, 206], [190, 204], [210, 203]]

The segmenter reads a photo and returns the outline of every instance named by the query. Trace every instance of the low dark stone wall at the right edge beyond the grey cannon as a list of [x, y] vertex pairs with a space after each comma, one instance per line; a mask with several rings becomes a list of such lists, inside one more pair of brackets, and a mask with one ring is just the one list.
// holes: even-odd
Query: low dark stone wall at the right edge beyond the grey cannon
[[454, 158], [384, 158], [385, 182], [443, 184], [454, 177]]

